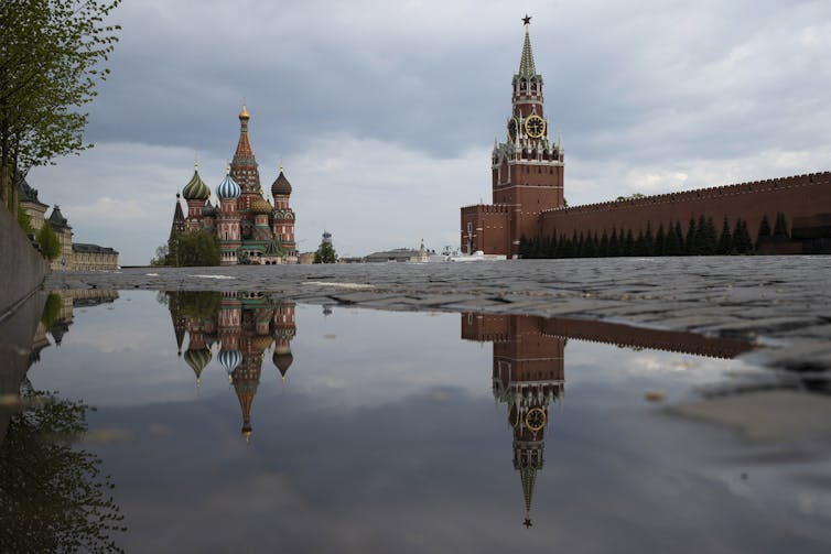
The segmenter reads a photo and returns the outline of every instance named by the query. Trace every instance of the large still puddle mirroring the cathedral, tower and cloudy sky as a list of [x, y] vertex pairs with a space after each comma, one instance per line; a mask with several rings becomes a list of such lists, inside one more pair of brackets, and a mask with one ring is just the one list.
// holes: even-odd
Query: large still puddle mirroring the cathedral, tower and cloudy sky
[[128, 552], [831, 547], [831, 398], [757, 345], [262, 293], [51, 304], [23, 398], [71, 402]]

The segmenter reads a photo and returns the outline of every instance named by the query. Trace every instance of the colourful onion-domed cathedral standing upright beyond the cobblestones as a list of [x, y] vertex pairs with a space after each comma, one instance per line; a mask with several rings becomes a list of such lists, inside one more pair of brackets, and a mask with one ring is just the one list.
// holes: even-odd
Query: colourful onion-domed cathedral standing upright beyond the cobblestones
[[182, 189], [187, 209], [182, 210], [180, 195], [173, 211], [168, 251], [176, 256], [176, 237], [181, 232], [204, 230], [214, 233], [222, 251], [222, 265], [296, 263], [294, 210], [289, 206], [291, 184], [280, 173], [271, 185], [273, 205], [263, 197], [260, 172], [248, 139], [251, 117], [242, 106], [239, 113], [239, 140], [225, 177], [217, 185], [216, 199], [202, 181], [198, 167]]

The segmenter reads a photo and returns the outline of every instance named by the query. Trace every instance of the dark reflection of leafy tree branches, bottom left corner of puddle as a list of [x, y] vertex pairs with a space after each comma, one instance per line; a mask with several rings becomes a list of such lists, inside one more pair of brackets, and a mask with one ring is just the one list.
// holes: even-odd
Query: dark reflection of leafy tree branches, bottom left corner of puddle
[[31, 390], [0, 445], [1, 552], [123, 552], [127, 530], [100, 458], [77, 448], [87, 431], [83, 402]]

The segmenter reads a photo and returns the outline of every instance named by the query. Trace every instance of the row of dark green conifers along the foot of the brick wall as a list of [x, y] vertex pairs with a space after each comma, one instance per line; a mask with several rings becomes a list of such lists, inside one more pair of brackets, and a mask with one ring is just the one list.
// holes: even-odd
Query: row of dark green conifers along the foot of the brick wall
[[785, 214], [776, 215], [774, 228], [770, 228], [767, 215], [763, 216], [756, 240], [751, 238], [747, 221], [737, 218], [731, 227], [724, 218], [721, 232], [716, 231], [713, 219], [693, 217], [684, 233], [681, 221], [663, 227], [661, 222], [652, 231], [650, 222], [637, 235], [632, 229], [612, 228], [583, 233], [574, 231], [571, 237], [552, 235], [550, 237], [522, 237], [519, 242], [521, 258], [606, 258], [618, 256], [731, 256], [753, 254], [766, 238], [788, 238]]

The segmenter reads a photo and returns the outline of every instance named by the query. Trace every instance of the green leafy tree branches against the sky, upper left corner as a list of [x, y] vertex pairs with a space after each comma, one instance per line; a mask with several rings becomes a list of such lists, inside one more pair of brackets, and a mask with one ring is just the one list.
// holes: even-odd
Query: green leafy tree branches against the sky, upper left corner
[[[78, 153], [88, 113], [77, 111], [109, 74], [118, 25], [105, 19], [121, 0], [0, 2], [0, 200], [10, 175]], [[12, 196], [15, 193], [12, 192]], [[14, 205], [14, 203], [12, 203]]]

